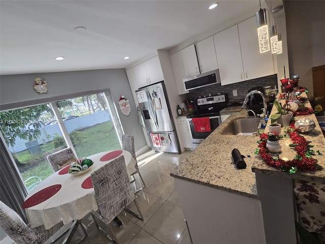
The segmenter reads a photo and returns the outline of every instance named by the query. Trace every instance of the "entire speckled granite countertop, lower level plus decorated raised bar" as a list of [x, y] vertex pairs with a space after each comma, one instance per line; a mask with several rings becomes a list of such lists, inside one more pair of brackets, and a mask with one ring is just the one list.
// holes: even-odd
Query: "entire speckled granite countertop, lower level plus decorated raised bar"
[[[228, 114], [230, 113], [229, 111], [226, 110]], [[276, 109], [273, 108], [271, 114], [275, 111]], [[175, 168], [171, 176], [252, 198], [257, 198], [255, 172], [306, 180], [325, 177], [325, 169], [316, 172], [289, 174], [269, 167], [261, 158], [254, 154], [259, 137], [255, 135], [235, 136], [221, 134], [233, 120], [243, 117], [247, 117], [246, 109], [232, 112], [224, 123], [214, 130]], [[322, 152], [323, 155], [315, 155], [313, 157], [318, 160], [319, 165], [325, 168], [325, 138], [321, 133], [315, 115], [299, 117], [310, 117], [317, 124], [313, 132], [302, 135], [307, 141], [312, 141], [311, 144], [314, 145], [313, 149], [315, 151], [320, 150]], [[296, 117], [296, 119], [299, 117]], [[270, 121], [267, 124], [266, 132], [268, 132], [269, 124]], [[292, 159], [296, 155], [296, 151], [288, 146], [290, 139], [285, 138], [280, 141], [282, 145], [281, 155], [283, 154], [283, 157]], [[246, 169], [237, 169], [232, 164], [233, 158], [231, 153], [234, 148], [237, 148], [246, 157], [244, 159], [247, 164]]]

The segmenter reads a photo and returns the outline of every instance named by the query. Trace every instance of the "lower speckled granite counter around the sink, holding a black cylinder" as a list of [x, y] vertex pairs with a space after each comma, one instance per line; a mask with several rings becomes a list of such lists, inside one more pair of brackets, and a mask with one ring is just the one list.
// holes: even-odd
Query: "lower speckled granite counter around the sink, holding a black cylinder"
[[[221, 135], [232, 120], [242, 117], [247, 117], [246, 109], [232, 113], [175, 168], [171, 176], [257, 198], [255, 173], [252, 172], [251, 167], [258, 137]], [[237, 169], [232, 164], [231, 153], [234, 148], [246, 157], [246, 169]]]

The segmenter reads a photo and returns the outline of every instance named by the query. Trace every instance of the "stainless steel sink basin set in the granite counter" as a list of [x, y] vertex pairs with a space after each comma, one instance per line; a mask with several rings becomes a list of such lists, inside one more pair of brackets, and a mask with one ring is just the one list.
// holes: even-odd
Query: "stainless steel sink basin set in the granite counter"
[[256, 124], [259, 126], [259, 118], [237, 118], [221, 132], [221, 135], [253, 135], [256, 133]]

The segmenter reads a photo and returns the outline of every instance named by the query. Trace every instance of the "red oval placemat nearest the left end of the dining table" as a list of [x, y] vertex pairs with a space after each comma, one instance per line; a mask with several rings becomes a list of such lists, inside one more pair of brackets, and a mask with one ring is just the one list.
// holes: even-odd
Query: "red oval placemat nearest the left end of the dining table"
[[44, 188], [43, 190], [35, 193], [31, 197], [29, 197], [24, 203], [21, 205], [23, 208], [28, 208], [28, 207], [34, 207], [37, 204], [40, 204], [50, 197], [54, 196], [60, 189], [61, 185], [53, 185], [47, 188]]

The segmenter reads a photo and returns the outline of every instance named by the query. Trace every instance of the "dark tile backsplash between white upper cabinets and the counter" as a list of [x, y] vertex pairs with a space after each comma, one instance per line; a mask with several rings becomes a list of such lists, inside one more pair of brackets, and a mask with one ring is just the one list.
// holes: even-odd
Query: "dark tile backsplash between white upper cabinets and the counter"
[[[203, 97], [205, 95], [216, 95], [217, 93], [221, 94], [228, 94], [228, 99], [230, 103], [233, 102], [243, 102], [245, 99], [248, 90], [256, 87], [256, 86], [267, 86], [267, 85], [277, 85], [277, 74], [269, 75], [265, 77], [260, 77], [257, 79], [242, 81], [230, 85], [222, 85], [214, 84], [205, 87], [201, 87], [198, 89], [189, 90], [188, 94], [186, 95], [186, 99], [195, 99], [199, 98], [200, 96]], [[233, 90], [237, 90], [238, 96], [233, 96]]]

